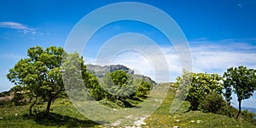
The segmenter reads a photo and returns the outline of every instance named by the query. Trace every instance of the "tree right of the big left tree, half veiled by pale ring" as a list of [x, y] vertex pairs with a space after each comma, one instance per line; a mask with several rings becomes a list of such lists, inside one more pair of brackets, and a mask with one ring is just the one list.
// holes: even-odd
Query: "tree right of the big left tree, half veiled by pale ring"
[[75, 101], [102, 100], [105, 93], [94, 74], [87, 71], [78, 53], [67, 55], [62, 64], [63, 80], [69, 97]]

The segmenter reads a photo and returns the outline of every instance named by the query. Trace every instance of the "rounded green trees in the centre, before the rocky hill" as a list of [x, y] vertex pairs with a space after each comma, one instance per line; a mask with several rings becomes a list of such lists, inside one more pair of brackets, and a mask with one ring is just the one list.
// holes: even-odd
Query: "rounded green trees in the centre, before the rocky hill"
[[106, 73], [102, 88], [108, 101], [116, 102], [121, 107], [134, 107], [138, 97], [149, 94], [153, 86], [144, 79], [133, 79], [131, 74], [123, 70]]

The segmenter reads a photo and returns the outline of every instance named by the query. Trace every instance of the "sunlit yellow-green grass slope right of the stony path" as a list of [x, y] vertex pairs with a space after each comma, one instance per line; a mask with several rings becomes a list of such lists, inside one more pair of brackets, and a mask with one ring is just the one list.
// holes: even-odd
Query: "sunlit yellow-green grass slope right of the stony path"
[[[170, 113], [170, 105], [174, 98], [175, 92], [172, 88], [169, 90], [165, 101], [160, 108], [156, 110], [148, 119], [146, 123], [148, 127], [173, 127], [179, 128], [205, 128], [205, 127], [239, 127], [239, 128], [256, 128], [251, 122], [243, 119], [229, 118], [228, 116], [216, 113], [202, 113], [201, 111], [189, 111], [189, 102], [183, 102], [183, 105], [177, 109], [175, 113]], [[200, 120], [200, 123], [197, 123]], [[194, 123], [192, 123], [194, 121]]]

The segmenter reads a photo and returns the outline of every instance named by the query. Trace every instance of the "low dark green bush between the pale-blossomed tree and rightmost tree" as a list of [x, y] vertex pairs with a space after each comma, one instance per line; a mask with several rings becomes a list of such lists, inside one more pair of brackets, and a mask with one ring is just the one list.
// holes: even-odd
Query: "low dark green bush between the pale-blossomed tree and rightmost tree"
[[201, 102], [200, 108], [207, 113], [222, 113], [223, 108], [225, 108], [225, 102], [221, 95], [213, 93], [206, 96]]

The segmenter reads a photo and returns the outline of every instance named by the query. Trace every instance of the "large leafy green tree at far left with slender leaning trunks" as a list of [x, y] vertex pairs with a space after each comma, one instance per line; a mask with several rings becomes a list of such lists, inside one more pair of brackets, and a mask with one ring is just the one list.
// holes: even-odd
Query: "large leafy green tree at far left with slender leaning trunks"
[[[20, 85], [36, 98], [47, 97], [46, 113], [49, 114], [51, 102], [64, 90], [61, 60], [67, 55], [62, 48], [51, 46], [42, 49], [39, 46], [27, 50], [28, 58], [21, 59], [15, 67], [9, 70], [7, 78], [15, 85]], [[32, 106], [30, 113], [32, 114]]]

